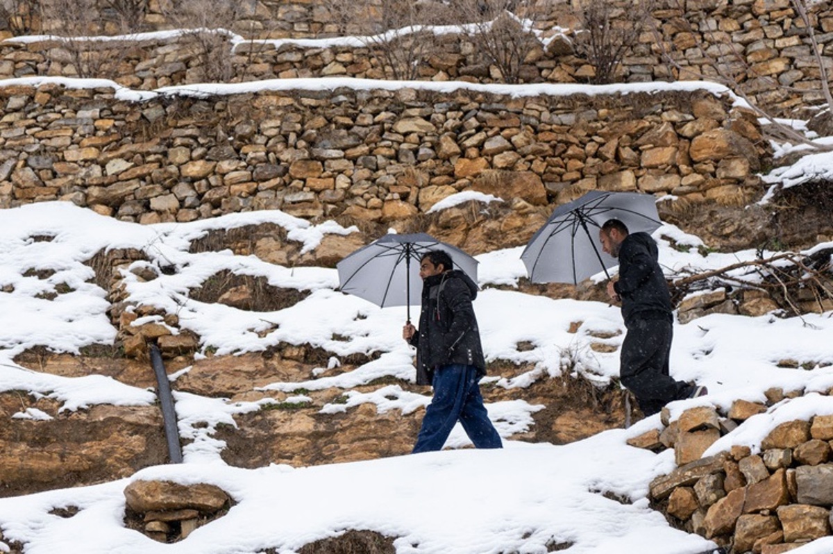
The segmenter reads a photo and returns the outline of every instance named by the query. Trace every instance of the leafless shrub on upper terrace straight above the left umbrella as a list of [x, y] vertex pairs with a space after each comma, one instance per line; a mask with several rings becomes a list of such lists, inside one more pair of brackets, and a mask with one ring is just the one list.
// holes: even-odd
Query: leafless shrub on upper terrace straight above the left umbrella
[[328, 7], [342, 33], [357, 37], [379, 56], [394, 79], [416, 78], [420, 62], [436, 46], [430, 26], [437, 22], [438, 12], [426, 2], [332, 0]]

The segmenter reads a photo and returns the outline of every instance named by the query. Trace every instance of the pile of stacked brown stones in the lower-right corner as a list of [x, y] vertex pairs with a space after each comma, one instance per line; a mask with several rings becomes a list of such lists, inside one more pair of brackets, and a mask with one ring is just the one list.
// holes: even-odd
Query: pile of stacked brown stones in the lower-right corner
[[714, 407], [686, 410], [666, 426], [629, 441], [655, 451], [673, 448], [677, 469], [651, 482], [650, 496], [669, 520], [732, 554], [781, 554], [831, 534], [833, 416], [781, 423], [760, 453], [733, 446], [702, 458], [721, 435], [787, 395], [767, 391], [766, 404], [736, 401], [724, 416]]

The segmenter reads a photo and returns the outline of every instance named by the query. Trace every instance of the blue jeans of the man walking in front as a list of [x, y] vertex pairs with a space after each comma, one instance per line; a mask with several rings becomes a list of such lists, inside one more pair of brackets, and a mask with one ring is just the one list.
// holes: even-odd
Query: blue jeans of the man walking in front
[[436, 369], [431, 382], [434, 397], [422, 418], [412, 453], [441, 450], [458, 420], [475, 447], [503, 447], [483, 406], [478, 381], [480, 377], [474, 366], [455, 364]]

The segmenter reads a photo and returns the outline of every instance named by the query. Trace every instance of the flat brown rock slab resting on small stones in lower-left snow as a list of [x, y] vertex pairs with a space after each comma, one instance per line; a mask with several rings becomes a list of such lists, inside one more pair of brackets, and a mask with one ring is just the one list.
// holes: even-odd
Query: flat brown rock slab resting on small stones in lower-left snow
[[229, 501], [220, 487], [207, 483], [180, 485], [169, 481], [134, 481], [124, 489], [127, 507], [133, 512], [165, 512], [192, 508], [217, 512]]

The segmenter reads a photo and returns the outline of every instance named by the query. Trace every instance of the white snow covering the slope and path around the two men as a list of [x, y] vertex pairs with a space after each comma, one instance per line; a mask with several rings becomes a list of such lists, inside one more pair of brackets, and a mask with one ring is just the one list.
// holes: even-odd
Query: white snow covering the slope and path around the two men
[[[475, 198], [476, 199], [476, 198]], [[471, 200], [464, 197], [461, 200]], [[491, 199], [480, 199], [488, 202]], [[453, 204], [453, 200], [448, 202]], [[87, 282], [92, 270], [84, 261], [102, 248], [139, 248], [148, 261], [137, 266], [176, 267], [142, 282], [125, 273], [129, 300], [176, 311], [180, 325], [202, 338], [201, 348], [220, 354], [252, 352], [277, 342], [309, 342], [335, 353], [329, 367], [310, 382], [272, 383], [269, 390], [297, 387], [344, 387], [349, 390], [386, 375], [413, 378], [411, 352], [400, 337], [404, 307], [379, 308], [335, 289], [335, 269], [287, 268], [231, 252], [189, 253], [190, 243], [209, 229], [273, 222], [287, 228], [292, 239], [314, 249], [324, 233], [347, 233], [332, 222], [314, 226], [282, 212], [251, 212], [191, 223], [140, 226], [101, 217], [69, 203], [52, 202], [4, 210], [0, 217], [0, 391], [25, 390], [62, 402], [65, 410], [98, 403], [146, 405], [152, 392], [129, 387], [109, 377], [57, 377], [18, 367], [13, 357], [28, 347], [46, 345], [78, 352], [92, 343], [112, 342], [116, 329], [107, 319], [105, 292]], [[37, 240], [36, 240], [37, 237]], [[661, 227], [661, 263], [668, 271], [682, 267], [724, 267], [756, 256], [756, 252], [697, 252], [699, 239], [673, 226]], [[676, 247], [671, 247], [673, 239]], [[681, 252], [680, 245], [691, 245]], [[619, 309], [601, 302], [533, 297], [490, 287], [512, 284], [522, 277], [521, 248], [488, 252], [478, 257], [483, 289], [475, 302], [486, 356], [533, 364], [536, 369], [496, 385], [524, 387], [557, 375], [570, 352], [575, 370], [600, 381], [616, 376], [616, 352], [599, 353], [588, 345], [592, 334], [623, 331]], [[52, 270], [45, 279], [32, 270]], [[276, 287], [312, 291], [293, 307], [278, 312], [247, 312], [222, 304], [196, 302], [190, 287], [221, 270], [267, 277]], [[66, 283], [70, 292], [53, 300]], [[63, 287], [63, 291], [67, 288]], [[42, 297], [37, 297], [41, 294]], [[414, 307], [418, 309], [418, 307]], [[362, 317], [357, 317], [361, 314]], [[695, 402], [728, 407], [736, 398], [763, 399], [769, 387], [825, 391], [833, 386], [831, 314], [803, 318], [711, 315], [675, 329], [672, 368], [675, 377], [706, 384], [711, 394], [696, 401], [676, 402], [679, 412]], [[142, 322], [143, 320], [140, 320]], [[572, 322], [582, 322], [569, 332]], [[275, 328], [274, 324], [279, 324]], [[266, 332], [273, 328], [272, 332]], [[334, 341], [337, 334], [349, 341]], [[263, 335], [262, 337], [259, 335]], [[606, 336], [606, 335], [605, 335]], [[622, 335], [605, 339], [613, 345]], [[528, 341], [531, 350], [516, 344]], [[377, 350], [382, 356], [352, 372], [327, 377], [337, 357]], [[786, 359], [816, 364], [786, 369]], [[187, 371], [187, 370], [186, 370]], [[180, 373], [179, 375], [181, 375]], [[346, 405], [374, 402], [380, 411], [411, 412], [428, 397], [388, 387], [379, 394], [348, 395]], [[659, 427], [658, 417], [628, 430], [613, 430], [566, 446], [516, 442], [511, 435], [534, 422], [537, 407], [526, 402], [490, 405], [501, 429], [502, 451], [451, 450], [416, 456], [322, 467], [272, 465], [256, 470], [228, 467], [219, 456], [222, 444], [212, 440], [213, 428], [229, 422], [235, 412], [257, 409], [257, 403], [230, 403], [177, 393], [177, 415], [183, 435], [193, 437], [185, 463], [149, 467], [131, 479], [166, 479], [182, 483], [209, 482], [229, 492], [237, 505], [225, 516], [193, 532], [182, 542], [161, 545], [124, 527], [123, 489], [129, 480], [94, 487], [43, 492], [0, 499], [0, 529], [7, 541], [23, 542], [27, 553], [54, 552], [193, 552], [227, 554], [276, 548], [294, 552], [307, 542], [346, 529], [368, 529], [398, 537], [397, 552], [546, 552], [546, 545], [570, 542], [570, 552], [641, 552], [695, 554], [710, 552], [713, 543], [668, 526], [648, 507], [646, 492], [653, 477], [670, 471], [673, 452], [659, 455], [626, 446], [628, 437]], [[345, 409], [325, 406], [322, 412]], [[748, 443], [785, 417], [833, 412], [827, 397], [810, 395], [774, 407], [721, 439], [721, 445]], [[48, 417], [37, 411], [15, 417]], [[207, 422], [207, 426], [193, 425]], [[754, 430], [753, 430], [754, 429]], [[742, 432], [741, 432], [742, 431]], [[456, 431], [449, 446], [466, 444]], [[603, 496], [628, 497], [621, 504]], [[76, 506], [80, 512], [63, 519], [49, 512]], [[820, 543], [820, 542], [816, 542]], [[816, 543], [796, 552], [813, 550]], [[821, 542], [823, 543], [823, 542]], [[0, 542], [0, 552], [6, 546]]]

